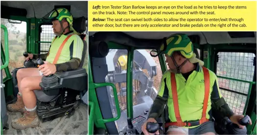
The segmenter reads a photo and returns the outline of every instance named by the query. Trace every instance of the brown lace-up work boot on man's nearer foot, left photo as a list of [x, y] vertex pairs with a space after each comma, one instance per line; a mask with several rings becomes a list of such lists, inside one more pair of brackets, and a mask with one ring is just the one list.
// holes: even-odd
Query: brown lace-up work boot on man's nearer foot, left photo
[[39, 125], [37, 111], [24, 111], [22, 118], [12, 122], [12, 127], [16, 130], [23, 130], [26, 128], [35, 128]]

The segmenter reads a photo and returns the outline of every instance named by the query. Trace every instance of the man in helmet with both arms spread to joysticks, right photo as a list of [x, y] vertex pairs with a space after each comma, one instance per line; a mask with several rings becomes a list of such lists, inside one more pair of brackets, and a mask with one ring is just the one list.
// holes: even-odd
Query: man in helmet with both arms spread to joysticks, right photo
[[165, 123], [167, 135], [215, 135], [211, 109], [243, 128], [238, 120], [244, 115], [235, 115], [229, 108], [220, 93], [216, 75], [203, 67], [204, 62], [193, 50], [186, 34], [175, 34], [164, 39], [158, 51], [151, 52], [152, 56], [165, 54], [169, 70], [164, 72], [148, 120], [142, 125], [145, 135], [149, 134], [147, 122], [157, 122], [166, 103], [171, 121]]

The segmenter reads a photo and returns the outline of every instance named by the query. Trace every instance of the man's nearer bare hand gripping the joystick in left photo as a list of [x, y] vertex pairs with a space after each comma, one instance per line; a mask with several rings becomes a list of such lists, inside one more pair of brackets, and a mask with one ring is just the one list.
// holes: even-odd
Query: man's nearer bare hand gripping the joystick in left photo
[[38, 67], [38, 70], [40, 70], [44, 76], [49, 76], [56, 73], [56, 66], [54, 64], [47, 61], [44, 61], [44, 63], [45, 64]]

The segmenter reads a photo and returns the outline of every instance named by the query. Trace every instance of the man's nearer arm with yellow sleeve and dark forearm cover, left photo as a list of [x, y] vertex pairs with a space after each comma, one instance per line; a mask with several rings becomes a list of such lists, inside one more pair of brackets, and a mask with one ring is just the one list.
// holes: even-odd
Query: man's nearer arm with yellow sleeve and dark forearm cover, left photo
[[74, 40], [70, 44], [70, 61], [55, 64], [56, 72], [74, 70], [79, 67], [82, 59], [84, 44], [78, 35], [74, 36]]

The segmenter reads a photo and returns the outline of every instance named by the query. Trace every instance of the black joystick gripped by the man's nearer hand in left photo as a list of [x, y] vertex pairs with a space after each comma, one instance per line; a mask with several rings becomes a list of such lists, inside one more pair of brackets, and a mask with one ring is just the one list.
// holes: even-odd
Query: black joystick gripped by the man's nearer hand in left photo
[[[41, 58], [38, 58], [36, 60], [37, 67], [43, 64], [45, 63]], [[49, 76], [43, 76], [41, 81], [45, 87], [52, 87], [58, 84], [58, 78], [56, 76], [53, 76], [53, 74]]]

